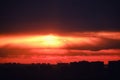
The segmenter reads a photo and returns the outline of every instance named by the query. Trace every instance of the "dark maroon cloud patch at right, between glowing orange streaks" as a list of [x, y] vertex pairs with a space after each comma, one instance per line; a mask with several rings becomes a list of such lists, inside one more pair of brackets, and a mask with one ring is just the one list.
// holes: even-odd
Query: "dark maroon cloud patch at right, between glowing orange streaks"
[[98, 43], [97, 45], [85, 43], [82, 46], [80, 44], [74, 46], [69, 45], [67, 48], [74, 50], [92, 50], [92, 51], [98, 51], [104, 49], [120, 49], [120, 40], [102, 38], [101, 42]]

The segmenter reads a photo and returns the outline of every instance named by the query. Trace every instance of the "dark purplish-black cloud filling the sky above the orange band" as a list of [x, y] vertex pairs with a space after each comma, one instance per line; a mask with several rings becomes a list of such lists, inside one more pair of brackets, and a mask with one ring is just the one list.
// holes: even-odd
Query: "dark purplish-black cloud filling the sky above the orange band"
[[115, 0], [14, 0], [2, 1], [0, 7], [1, 34], [120, 31]]

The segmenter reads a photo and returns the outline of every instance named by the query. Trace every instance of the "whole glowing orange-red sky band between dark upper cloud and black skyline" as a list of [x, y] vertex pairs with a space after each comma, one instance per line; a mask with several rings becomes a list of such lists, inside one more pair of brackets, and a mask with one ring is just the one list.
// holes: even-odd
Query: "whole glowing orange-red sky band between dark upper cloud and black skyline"
[[120, 60], [120, 32], [0, 35], [0, 62]]

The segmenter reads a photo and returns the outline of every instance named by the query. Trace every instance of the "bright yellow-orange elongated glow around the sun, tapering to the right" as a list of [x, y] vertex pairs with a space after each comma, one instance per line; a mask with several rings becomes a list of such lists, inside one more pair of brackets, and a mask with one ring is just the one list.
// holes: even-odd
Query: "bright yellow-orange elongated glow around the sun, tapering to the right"
[[[74, 37], [56, 35], [28, 35], [28, 36], [3, 36], [0, 46], [18, 46], [28, 48], [66, 48], [67, 46], [97, 45], [101, 39], [97, 37]], [[79, 43], [79, 44], [78, 44]]]

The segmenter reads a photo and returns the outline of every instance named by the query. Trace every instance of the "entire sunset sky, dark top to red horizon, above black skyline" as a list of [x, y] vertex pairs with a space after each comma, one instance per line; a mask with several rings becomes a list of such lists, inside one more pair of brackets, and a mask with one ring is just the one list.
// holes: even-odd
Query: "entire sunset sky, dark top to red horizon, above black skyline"
[[0, 63], [120, 60], [118, 0], [8, 0], [0, 7]]

